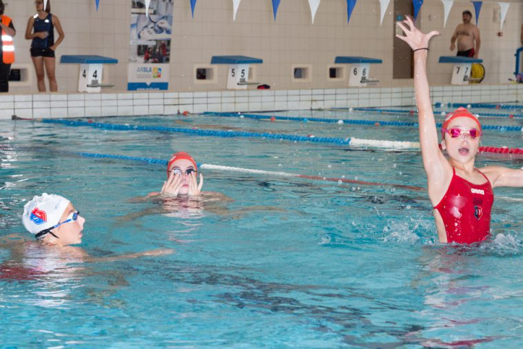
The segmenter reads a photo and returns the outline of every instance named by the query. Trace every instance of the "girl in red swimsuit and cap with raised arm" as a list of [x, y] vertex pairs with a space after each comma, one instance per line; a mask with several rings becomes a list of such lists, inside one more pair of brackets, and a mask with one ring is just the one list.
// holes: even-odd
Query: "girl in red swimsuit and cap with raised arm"
[[420, 32], [410, 18], [399, 22], [398, 26], [404, 36], [397, 37], [414, 51], [421, 152], [438, 237], [440, 242], [449, 243], [484, 241], [491, 234], [492, 189], [523, 187], [523, 170], [501, 166], [478, 170], [474, 167], [483, 132], [478, 118], [464, 108], [447, 115], [441, 129], [442, 141], [438, 143], [427, 79], [427, 54], [430, 39], [439, 33]]

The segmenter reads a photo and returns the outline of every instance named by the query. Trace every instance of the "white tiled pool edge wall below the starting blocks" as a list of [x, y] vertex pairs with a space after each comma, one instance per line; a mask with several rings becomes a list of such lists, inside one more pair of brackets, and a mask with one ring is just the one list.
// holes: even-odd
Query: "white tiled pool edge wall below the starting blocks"
[[[523, 101], [523, 84], [433, 86], [433, 103]], [[264, 112], [356, 107], [413, 106], [413, 88], [338, 88], [212, 92], [6, 94], [0, 119], [164, 115], [177, 112]]]

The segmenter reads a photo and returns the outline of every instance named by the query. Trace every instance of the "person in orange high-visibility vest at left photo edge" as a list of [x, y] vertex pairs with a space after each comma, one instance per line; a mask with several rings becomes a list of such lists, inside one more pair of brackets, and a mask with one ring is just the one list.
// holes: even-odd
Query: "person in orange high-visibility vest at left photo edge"
[[2, 38], [0, 41], [0, 92], [9, 92], [9, 72], [11, 63], [14, 62], [14, 43], [12, 37], [17, 34], [12, 25], [12, 20], [3, 14], [6, 6], [0, 0], [0, 27]]

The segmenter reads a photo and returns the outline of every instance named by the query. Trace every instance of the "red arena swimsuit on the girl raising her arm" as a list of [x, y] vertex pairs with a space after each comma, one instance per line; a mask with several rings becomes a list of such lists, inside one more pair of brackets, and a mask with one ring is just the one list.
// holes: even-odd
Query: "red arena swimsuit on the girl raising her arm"
[[473, 243], [483, 241], [491, 231], [491, 208], [494, 194], [491, 182], [473, 184], [453, 174], [449, 189], [435, 210], [440, 212], [447, 232], [447, 242]]

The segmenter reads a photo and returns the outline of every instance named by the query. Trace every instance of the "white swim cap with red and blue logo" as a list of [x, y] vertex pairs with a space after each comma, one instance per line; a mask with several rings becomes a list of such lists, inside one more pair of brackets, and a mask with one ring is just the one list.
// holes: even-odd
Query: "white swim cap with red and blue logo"
[[45, 192], [41, 196], [35, 195], [23, 206], [23, 226], [31, 234], [56, 226], [69, 202], [60, 195], [49, 195]]

